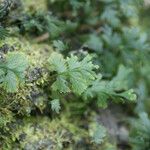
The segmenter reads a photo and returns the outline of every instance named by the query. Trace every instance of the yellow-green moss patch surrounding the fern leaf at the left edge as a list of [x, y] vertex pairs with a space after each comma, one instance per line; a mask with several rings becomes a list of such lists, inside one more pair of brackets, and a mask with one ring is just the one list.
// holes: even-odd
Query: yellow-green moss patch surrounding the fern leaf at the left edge
[[[40, 68], [46, 64], [46, 57], [50, 55], [52, 48], [46, 44], [34, 44], [34, 42], [31, 44], [23, 37], [6, 38], [0, 43], [0, 47], [5, 48], [4, 56], [11, 51], [21, 51], [26, 54], [30, 61], [25, 84], [20, 87], [18, 92], [11, 94], [1, 89], [0, 93], [0, 128], [4, 132], [0, 134], [0, 139], [2, 139], [1, 144], [4, 147], [11, 149], [9, 145], [14, 141], [14, 137], [12, 136], [11, 139], [9, 136], [14, 134], [9, 126], [10, 123], [13, 121], [17, 123], [17, 117], [21, 119], [23, 116], [29, 116], [36, 109], [42, 113], [47, 106], [48, 96], [41, 88], [47, 78], [47, 73]], [[41, 70], [39, 75], [35, 72], [36, 68]]]

